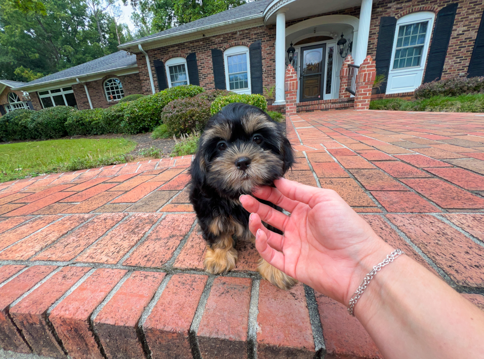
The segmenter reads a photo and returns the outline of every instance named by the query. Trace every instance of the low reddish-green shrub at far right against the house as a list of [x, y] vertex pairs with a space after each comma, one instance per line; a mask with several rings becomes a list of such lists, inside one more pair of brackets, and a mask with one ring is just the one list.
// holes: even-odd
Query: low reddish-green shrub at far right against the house
[[434, 96], [460, 96], [465, 94], [484, 93], [484, 77], [449, 78], [427, 82], [414, 92], [416, 99]]

